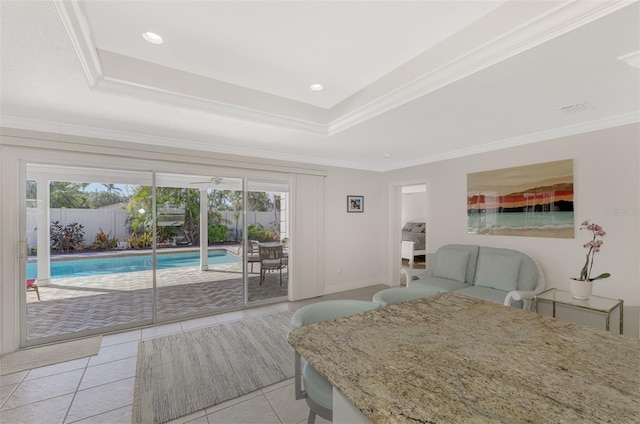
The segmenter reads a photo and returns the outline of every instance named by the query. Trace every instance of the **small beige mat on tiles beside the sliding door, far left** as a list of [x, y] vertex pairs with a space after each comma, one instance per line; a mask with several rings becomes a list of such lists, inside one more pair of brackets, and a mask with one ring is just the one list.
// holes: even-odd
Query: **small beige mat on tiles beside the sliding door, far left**
[[0, 356], [0, 375], [97, 355], [102, 336], [33, 347]]

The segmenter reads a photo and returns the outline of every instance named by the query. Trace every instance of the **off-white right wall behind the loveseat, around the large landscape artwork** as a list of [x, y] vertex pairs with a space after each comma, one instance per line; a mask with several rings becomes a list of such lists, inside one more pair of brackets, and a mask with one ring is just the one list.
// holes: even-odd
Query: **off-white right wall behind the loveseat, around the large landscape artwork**
[[[467, 233], [466, 178], [468, 173], [560, 159], [574, 160], [576, 229], [590, 219], [607, 231], [596, 254], [594, 272], [612, 277], [597, 281], [593, 294], [623, 299], [625, 334], [640, 334], [640, 125], [595, 131], [547, 140], [490, 153], [389, 172], [389, 184], [407, 179], [429, 179], [429, 248], [468, 243], [522, 250], [535, 257], [545, 272], [547, 288], [567, 289], [584, 264], [582, 244], [575, 239], [490, 236]], [[431, 252], [433, 253], [433, 252]]]

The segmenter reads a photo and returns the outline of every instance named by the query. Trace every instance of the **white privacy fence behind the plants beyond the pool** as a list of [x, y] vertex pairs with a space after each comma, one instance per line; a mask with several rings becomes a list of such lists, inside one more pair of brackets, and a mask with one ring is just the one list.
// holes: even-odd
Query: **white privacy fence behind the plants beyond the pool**
[[[62, 226], [77, 222], [84, 226], [84, 243], [91, 244], [95, 240], [96, 234], [100, 229], [110, 237], [122, 240], [129, 237], [127, 230], [127, 219], [129, 212], [123, 209], [68, 209], [68, 208], [52, 208], [50, 209], [49, 226], [54, 221], [59, 221]], [[235, 231], [236, 220], [233, 211], [221, 211], [222, 223]], [[36, 208], [27, 208], [27, 245], [28, 247], [37, 246], [37, 226], [38, 226], [38, 210]], [[262, 225], [265, 228], [273, 228], [281, 225], [280, 216], [276, 217], [271, 212], [247, 212], [248, 225]], [[238, 230], [242, 229], [242, 214], [238, 217]], [[47, 229], [48, 231], [49, 229]], [[284, 233], [284, 232], [282, 232]], [[231, 232], [233, 234], [233, 232]]]

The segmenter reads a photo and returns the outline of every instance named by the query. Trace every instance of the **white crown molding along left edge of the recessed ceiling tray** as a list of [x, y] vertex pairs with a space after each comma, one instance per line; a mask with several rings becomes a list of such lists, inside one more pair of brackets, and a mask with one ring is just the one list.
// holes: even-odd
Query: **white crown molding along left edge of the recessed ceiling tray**
[[69, 40], [71, 49], [78, 59], [82, 74], [89, 87], [93, 88], [102, 80], [104, 73], [82, 4], [78, 0], [51, 0], [51, 4], [64, 29], [63, 32], [67, 36], [67, 40]]

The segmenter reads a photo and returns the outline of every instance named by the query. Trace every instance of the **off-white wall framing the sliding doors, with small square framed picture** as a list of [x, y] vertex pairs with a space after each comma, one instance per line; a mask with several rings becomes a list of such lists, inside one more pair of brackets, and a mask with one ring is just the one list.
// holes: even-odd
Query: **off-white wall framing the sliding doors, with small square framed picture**
[[[382, 276], [386, 274], [388, 209], [383, 174], [341, 168], [309, 168], [309, 165], [291, 162], [180, 149], [154, 148], [153, 151], [141, 151], [140, 145], [132, 143], [56, 134], [31, 134], [25, 132], [20, 138], [12, 138], [9, 134], [0, 139], [2, 164], [8, 164], [2, 169], [3, 178], [0, 180], [0, 191], [6, 195], [2, 198], [0, 207], [0, 228], [6, 236], [0, 240], [1, 353], [13, 351], [17, 347], [19, 334], [19, 293], [16, 281], [19, 281], [17, 244], [20, 235], [16, 229], [20, 228], [19, 217], [22, 214], [16, 205], [20, 204], [17, 199], [20, 159], [63, 165], [82, 162], [89, 167], [104, 166], [126, 171], [162, 168], [167, 172], [202, 175], [238, 177], [249, 174], [265, 181], [286, 180], [289, 173], [327, 175], [326, 207], [320, 212], [326, 222], [322, 250], [325, 252], [325, 260], [323, 272], [318, 273], [324, 277], [323, 292], [337, 292], [385, 282]], [[54, 150], [48, 150], [49, 148]], [[216, 166], [224, 168], [215, 168]], [[347, 213], [347, 195], [364, 196], [364, 213]], [[309, 241], [297, 240], [296, 248], [305, 249], [314, 240], [317, 239], [309, 237]]]

